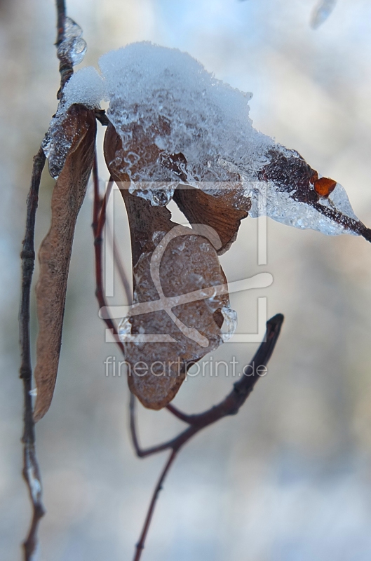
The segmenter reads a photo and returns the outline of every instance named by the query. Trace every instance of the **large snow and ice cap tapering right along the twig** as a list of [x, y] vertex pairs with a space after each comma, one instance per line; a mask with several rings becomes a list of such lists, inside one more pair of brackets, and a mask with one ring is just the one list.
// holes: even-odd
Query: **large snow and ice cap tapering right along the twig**
[[107, 53], [100, 68], [122, 142], [111, 163], [130, 193], [166, 205], [187, 184], [238, 210], [252, 205], [252, 217], [359, 234], [344, 189], [332, 182], [335, 190], [320, 196], [316, 171], [252, 127], [251, 94], [215, 79], [187, 53], [151, 43]]

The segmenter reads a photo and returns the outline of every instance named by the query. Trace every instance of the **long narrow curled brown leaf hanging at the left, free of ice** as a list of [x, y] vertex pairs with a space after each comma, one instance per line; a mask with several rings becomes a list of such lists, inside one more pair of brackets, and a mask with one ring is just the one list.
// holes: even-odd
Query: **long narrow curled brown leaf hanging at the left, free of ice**
[[94, 111], [83, 105], [72, 105], [62, 127], [65, 128], [65, 135], [73, 140], [53, 190], [50, 230], [39, 249], [35, 421], [39, 421], [48, 411], [58, 372], [74, 229], [93, 166], [96, 134]]

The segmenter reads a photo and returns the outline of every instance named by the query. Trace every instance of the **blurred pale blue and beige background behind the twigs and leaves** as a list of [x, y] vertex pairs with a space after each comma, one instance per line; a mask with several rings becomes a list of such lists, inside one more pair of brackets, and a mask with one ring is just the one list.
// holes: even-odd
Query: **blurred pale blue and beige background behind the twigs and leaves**
[[[80, 67], [97, 67], [100, 55], [132, 41], [187, 50], [217, 78], [251, 91], [254, 126], [340, 182], [370, 226], [371, 4], [339, 1], [313, 29], [315, 1], [67, 0], [67, 8], [88, 43]], [[32, 156], [56, 109], [53, 1], [1, 0], [0, 41], [0, 557], [19, 560], [30, 508], [21, 478], [18, 256]], [[44, 173], [37, 243], [48, 230], [53, 183]], [[128, 267], [128, 230], [115, 201]], [[47, 509], [41, 561], [130, 560], [165, 461], [135, 457], [126, 379], [105, 376], [104, 360], [120, 355], [104, 342], [97, 315], [91, 217], [90, 189], [76, 228], [55, 396], [36, 431]], [[142, 559], [368, 561], [371, 246], [269, 220], [268, 262], [258, 266], [257, 222], [246, 219], [222, 264], [229, 280], [273, 274], [270, 288], [234, 294], [231, 304], [238, 332], [256, 332], [257, 297], [267, 297], [269, 316], [285, 314], [281, 338], [238, 416], [180, 453]], [[34, 302], [32, 313], [35, 340]], [[213, 358], [245, 365], [256, 348], [226, 344]], [[232, 382], [189, 378], [175, 405], [201, 411]], [[166, 411], [139, 413], [143, 445], [182, 428]]]

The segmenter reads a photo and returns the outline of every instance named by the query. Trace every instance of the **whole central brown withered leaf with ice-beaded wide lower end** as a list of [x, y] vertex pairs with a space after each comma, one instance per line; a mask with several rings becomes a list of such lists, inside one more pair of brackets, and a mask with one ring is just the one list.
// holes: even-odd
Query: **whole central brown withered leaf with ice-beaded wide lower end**
[[[115, 164], [121, 140], [107, 129], [104, 156], [128, 212], [133, 259], [134, 303], [142, 312], [123, 321], [121, 340], [129, 365], [130, 391], [145, 407], [161, 409], [177, 393], [187, 369], [222, 343], [223, 311], [229, 307], [226, 279], [212, 243], [211, 228], [189, 229], [170, 211], [130, 194], [128, 175]], [[142, 161], [142, 165], [145, 162]], [[214, 234], [214, 236], [213, 236]], [[212, 240], [212, 241], [210, 241]], [[156, 341], [151, 342], [151, 337]]]

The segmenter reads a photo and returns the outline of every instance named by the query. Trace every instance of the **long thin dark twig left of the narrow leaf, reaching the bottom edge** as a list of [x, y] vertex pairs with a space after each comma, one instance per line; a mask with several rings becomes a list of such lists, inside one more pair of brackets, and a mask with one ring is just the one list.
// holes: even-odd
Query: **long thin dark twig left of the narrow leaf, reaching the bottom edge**
[[44, 509], [41, 496], [41, 478], [39, 465], [36, 459], [35, 431], [32, 411], [32, 365], [31, 345], [29, 340], [29, 297], [31, 292], [32, 274], [34, 272], [35, 250], [34, 231], [36, 210], [39, 201], [39, 187], [41, 173], [45, 165], [46, 157], [40, 148], [34, 157], [32, 168], [31, 186], [27, 197], [26, 233], [22, 245], [22, 288], [20, 299], [20, 377], [23, 381], [24, 391], [24, 413], [23, 413], [23, 477], [29, 489], [32, 502], [32, 522], [27, 538], [23, 543], [25, 561], [31, 561], [37, 543], [37, 529], [39, 521], [43, 516]]

